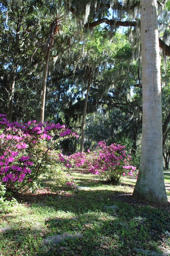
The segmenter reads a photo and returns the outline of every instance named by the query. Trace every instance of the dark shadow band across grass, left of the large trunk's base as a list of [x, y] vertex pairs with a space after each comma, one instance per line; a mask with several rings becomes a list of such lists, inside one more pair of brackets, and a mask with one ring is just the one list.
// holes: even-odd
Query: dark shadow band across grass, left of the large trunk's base
[[[114, 197], [113, 197], [114, 195]], [[80, 190], [78, 193], [64, 191], [63, 194], [38, 194], [38, 195], [22, 195], [16, 194], [15, 197], [19, 203], [26, 203], [28, 207], [53, 207], [56, 211], [72, 212], [82, 214], [86, 211], [102, 210], [104, 205], [112, 201], [121, 200], [120, 195], [123, 197], [131, 197], [130, 193], [112, 192], [108, 190], [95, 190], [86, 191]], [[128, 200], [129, 198], [127, 198]]]

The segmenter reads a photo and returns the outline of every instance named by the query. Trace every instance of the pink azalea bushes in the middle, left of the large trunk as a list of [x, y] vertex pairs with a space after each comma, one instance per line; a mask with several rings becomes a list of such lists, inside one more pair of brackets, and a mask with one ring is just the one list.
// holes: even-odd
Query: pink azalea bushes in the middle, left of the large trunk
[[107, 146], [104, 141], [100, 141], [95, 151], [75, 153], [67, 158], [63, 156], [63, 161], [68, 168], [88, 168], [91, 173], [105, 177], [112, 184], [119, 184], [123, 176], [137, 175], [125, 146], [116, 143]]

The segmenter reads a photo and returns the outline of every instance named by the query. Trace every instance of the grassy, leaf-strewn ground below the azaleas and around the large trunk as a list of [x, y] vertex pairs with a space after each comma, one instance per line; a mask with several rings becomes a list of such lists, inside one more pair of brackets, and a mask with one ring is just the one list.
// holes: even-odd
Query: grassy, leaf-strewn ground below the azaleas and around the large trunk
[[134, 201], [132, 178], [113, 186], [82, 171], [71, 175], [77, 190], [43, 180], [36, 194], [13, 195], [0, 212], [0, 256], [170, 254], [169, 204]]

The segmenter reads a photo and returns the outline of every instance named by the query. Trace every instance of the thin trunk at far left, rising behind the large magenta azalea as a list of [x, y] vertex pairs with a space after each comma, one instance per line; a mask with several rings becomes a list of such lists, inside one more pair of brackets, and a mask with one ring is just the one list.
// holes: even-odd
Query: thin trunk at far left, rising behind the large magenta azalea
[[12, 85], [11, 85], [11, 90], [10, 90], [10, 95], [9, 95], [9, 100], [8, 100], [8, 120], [12, 122], [13, 118], [13, 100], [14, 100], [14, 93], [15, 93], [15, 79], [16, 79], [16, 69], [12, 69]]

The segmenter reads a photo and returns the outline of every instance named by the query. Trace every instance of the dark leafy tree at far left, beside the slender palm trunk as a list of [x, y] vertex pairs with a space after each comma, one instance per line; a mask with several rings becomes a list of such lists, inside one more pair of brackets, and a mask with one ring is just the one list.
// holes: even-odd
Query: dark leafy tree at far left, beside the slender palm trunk
[[[0, 56], [1, 97], [3, 107], [10, 120], [32, 117], [31, 105], [38, 108], [36, 94], [41, 69], [41, 58], [37, 55], [38, 31], [29, 25], [29, 2], [22, 5], [1, 5]], [[39, 65], [37, 66], [37, 62]], [[33, 101], [32, 101], [33, 100]], [[31, 111], [30, 111], [31, 110]], [[35, 111], [36, 112], [36, 111]], [[29, 114], [28, 114], [29, 113]]]

